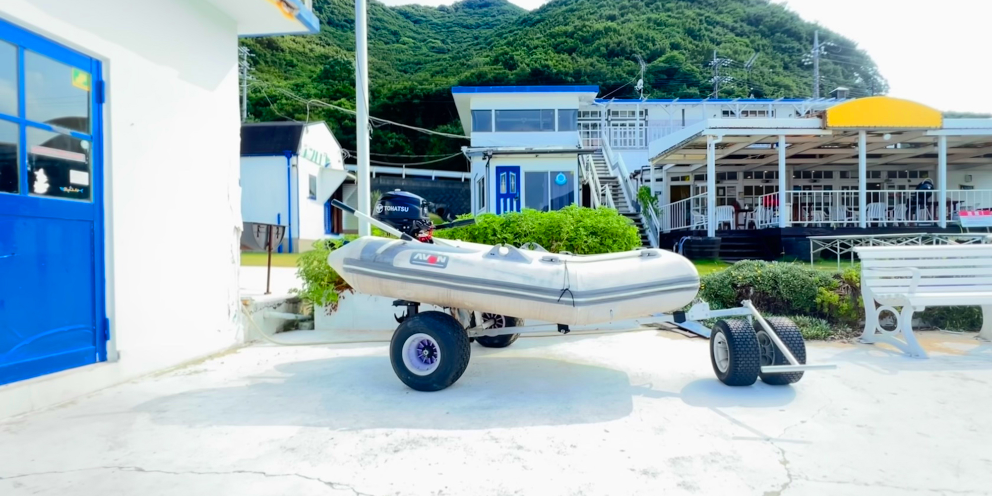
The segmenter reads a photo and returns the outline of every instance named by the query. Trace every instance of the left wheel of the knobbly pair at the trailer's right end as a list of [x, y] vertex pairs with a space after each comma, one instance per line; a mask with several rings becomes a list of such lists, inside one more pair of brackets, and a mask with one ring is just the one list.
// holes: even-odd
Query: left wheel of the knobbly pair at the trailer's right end
[[751, 322], [717, 320], [709, 336], [709, 360], [716, 378], [727, 386], [750, 386], [761, 371], [758, 338]]

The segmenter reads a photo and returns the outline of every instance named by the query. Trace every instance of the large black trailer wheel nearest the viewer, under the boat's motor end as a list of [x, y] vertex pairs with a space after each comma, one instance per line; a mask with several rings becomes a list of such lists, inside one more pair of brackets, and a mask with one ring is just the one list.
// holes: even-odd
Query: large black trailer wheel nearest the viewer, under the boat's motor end
[[442, 311], [410, 316], [389, 344], [393, 371], [417, 391], [440, 391], [454, 384], [468, 367], [470, 353], [464, 327]]

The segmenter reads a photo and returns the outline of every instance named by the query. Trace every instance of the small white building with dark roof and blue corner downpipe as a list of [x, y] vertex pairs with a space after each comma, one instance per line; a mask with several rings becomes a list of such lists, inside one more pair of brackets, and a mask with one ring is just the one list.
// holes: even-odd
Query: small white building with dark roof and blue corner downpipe
[[347, 173], [324, 122], [241, 126], [241, 216], [286, 226], [281, 253], [307, 251], [332, 233], [330, 197]]

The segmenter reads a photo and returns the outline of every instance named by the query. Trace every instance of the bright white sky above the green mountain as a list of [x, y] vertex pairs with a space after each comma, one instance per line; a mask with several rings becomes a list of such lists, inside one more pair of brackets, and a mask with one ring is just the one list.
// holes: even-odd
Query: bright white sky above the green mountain
[[[387, 5], [451, 3], [382, 1]], [[545, 3], [510, 1], [525, 9]], [[890, 96], [945, 111], [992, 113], [992, 55], [988, 50], [992, 0], [774, 1], [867, 51], [889, 80]]]

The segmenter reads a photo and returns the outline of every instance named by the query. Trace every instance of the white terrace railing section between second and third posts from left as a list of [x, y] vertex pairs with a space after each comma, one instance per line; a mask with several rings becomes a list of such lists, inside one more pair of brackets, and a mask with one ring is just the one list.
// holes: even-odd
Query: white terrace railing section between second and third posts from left
[[786, 205], [792, 225], [858, 225], [858, 191], [786, 191]]

